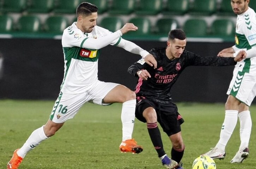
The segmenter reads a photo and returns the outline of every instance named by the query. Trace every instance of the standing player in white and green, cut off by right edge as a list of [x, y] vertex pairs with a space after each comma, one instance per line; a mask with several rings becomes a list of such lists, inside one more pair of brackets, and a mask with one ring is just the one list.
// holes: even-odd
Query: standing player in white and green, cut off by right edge
[[212, 158], [225, 158], [225, 147], [239, 118], [241, 144], [231, 163], [242, 163], [249, 156], [252, 126], [249, 106], [256, 95], [256, 13], [248, 4], [249, 0], [231, 0], [232, 9], [237, 14], [236, 44], [221, 50], [218, 56], [236, 56], [240, 50], [246, 50], [247, 56], [237, 62], [233, 71], [220, 139], [212, 150], [205, 153]]

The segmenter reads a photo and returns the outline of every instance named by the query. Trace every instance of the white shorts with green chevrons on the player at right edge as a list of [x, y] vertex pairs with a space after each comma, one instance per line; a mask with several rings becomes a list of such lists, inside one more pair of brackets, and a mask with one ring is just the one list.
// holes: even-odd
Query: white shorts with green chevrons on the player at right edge
[[227, 91], [227, 95], [236, 97], [248, 106], [251, 105], [256, 96], [256, 74], [249, 72], [238, 63], [233, 71], [233, 78]]

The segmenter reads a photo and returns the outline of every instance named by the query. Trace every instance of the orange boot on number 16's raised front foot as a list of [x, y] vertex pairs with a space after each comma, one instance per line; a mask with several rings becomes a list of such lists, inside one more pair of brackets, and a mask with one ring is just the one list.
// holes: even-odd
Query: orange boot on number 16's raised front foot
[[121, 152], [132, 152], [133, 154], [143, 151], [142, 146], [137, 145], [137, 142], [134, 139], [122, 141], [119, 149]]

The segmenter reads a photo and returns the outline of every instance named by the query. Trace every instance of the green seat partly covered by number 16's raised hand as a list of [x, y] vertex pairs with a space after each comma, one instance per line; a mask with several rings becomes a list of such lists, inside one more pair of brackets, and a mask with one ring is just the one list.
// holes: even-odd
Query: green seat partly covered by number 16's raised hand
[[131, 18], [129, 23], [138, 27], [136, 31], [130, 31], [127, 35], [148, 35], [151, 33], [151, 22], [147, 17]]

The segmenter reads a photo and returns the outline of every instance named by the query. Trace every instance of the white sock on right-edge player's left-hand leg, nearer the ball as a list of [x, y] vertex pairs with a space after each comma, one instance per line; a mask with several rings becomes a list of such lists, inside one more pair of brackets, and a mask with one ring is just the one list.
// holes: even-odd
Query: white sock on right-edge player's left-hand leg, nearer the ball
[[225, 151], [225, 147], [227, 145], [228, 140], [230, 139], [234, 128], [237, 125], [237, 110], [226, 110], [225, 111], [225, 119], [221, 127], [220, 131], [220, 140], [216, 144], [216, 147], [220, 151]]

